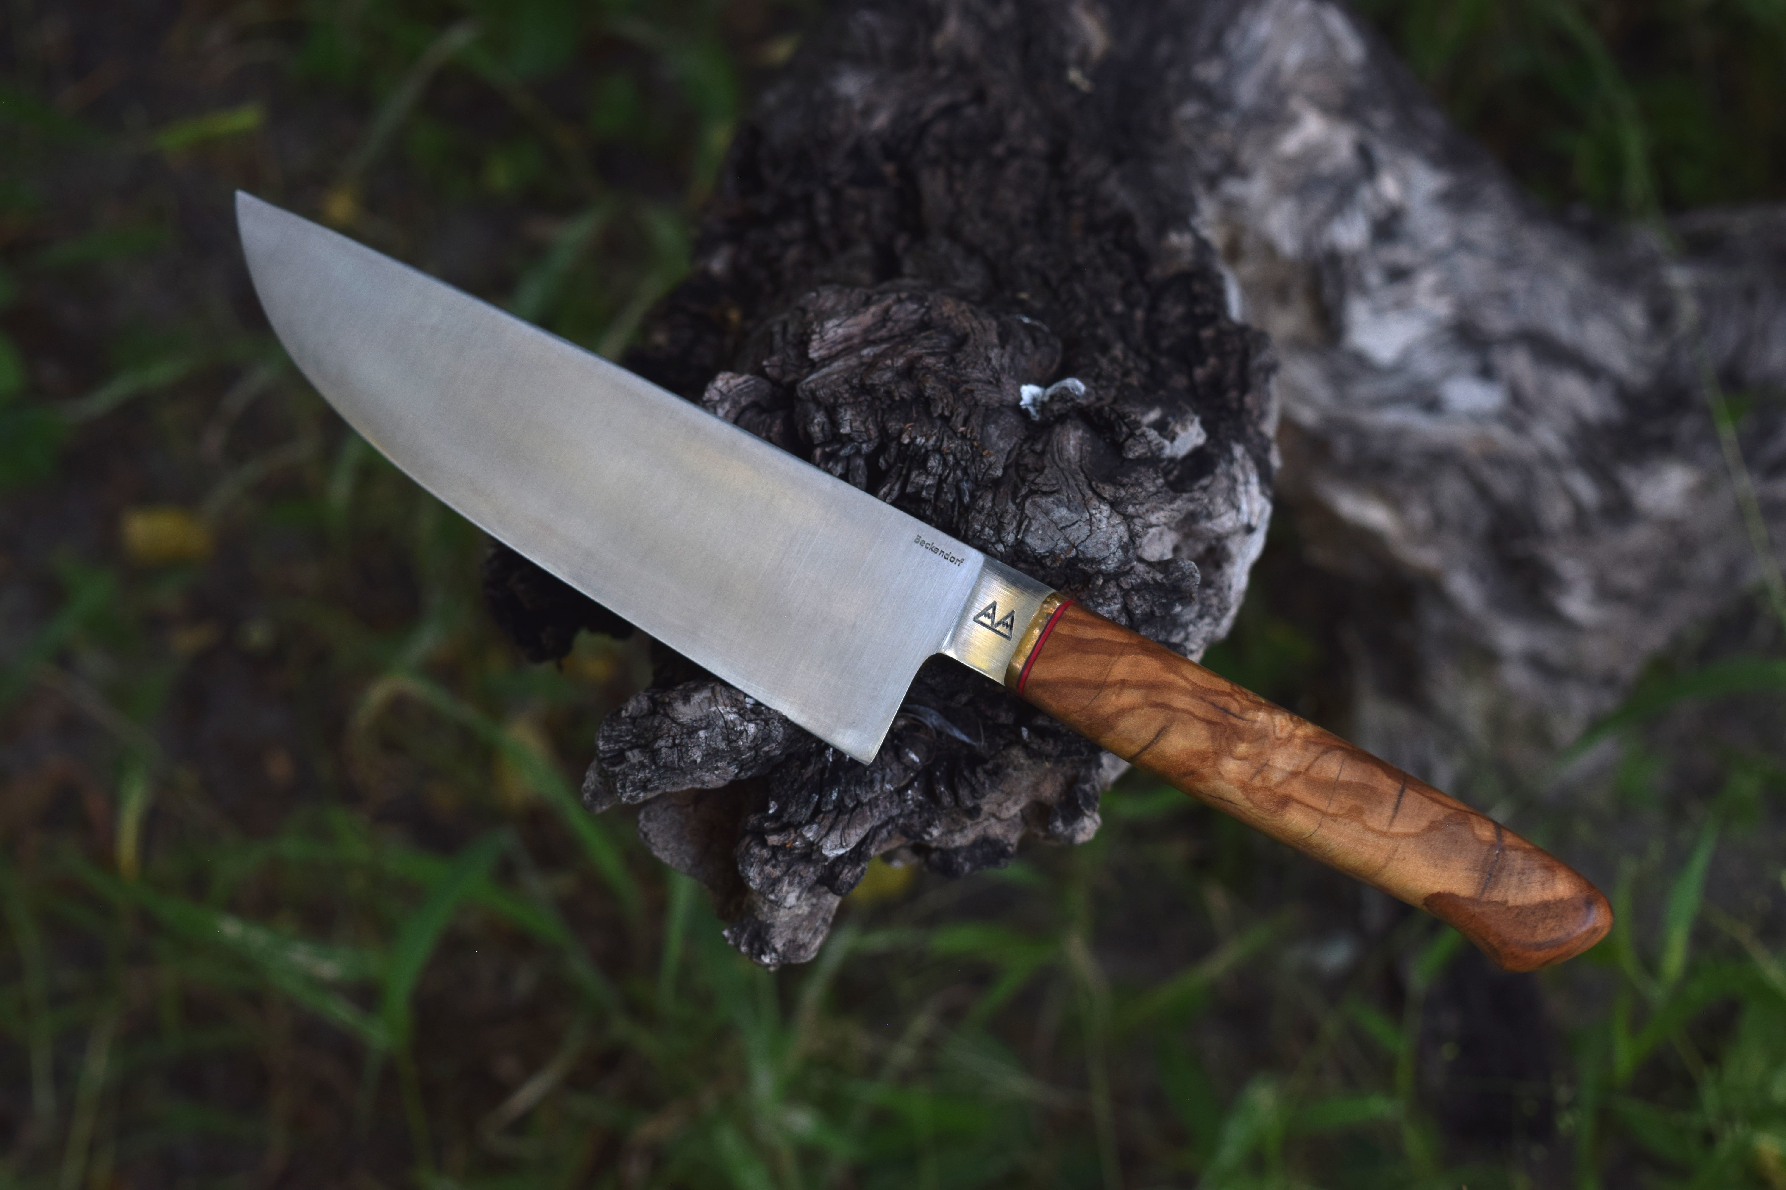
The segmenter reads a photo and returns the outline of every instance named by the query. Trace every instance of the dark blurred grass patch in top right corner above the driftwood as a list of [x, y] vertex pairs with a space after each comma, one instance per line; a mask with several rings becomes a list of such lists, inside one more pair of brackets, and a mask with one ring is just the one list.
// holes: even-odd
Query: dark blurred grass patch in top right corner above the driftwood
[[1361, 0], [1538, 194], [1627, 216], [1786, 198], [1779, 0]]

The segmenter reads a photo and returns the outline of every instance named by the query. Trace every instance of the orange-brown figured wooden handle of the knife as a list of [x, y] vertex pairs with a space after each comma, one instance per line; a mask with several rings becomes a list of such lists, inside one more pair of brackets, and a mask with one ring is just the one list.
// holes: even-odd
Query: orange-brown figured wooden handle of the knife
[[1423, 908], [1506, 971], [1613, 928], [1600, 890], [1425, 781], [1197, 662], [1050, 596], [1006, 683], [1129, 764]]

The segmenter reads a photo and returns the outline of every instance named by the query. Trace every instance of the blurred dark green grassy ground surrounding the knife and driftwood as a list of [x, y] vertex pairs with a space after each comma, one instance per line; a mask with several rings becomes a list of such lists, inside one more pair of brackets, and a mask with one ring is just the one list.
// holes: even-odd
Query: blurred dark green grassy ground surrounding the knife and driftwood
[[[1361, 9], [1557, 207], [1786, 198], [1781, 0]], [[873, 869], [768, 974], [580, 810], [643, 655], [495, 635], [479, 533], [263, 330], [230, 191], [614, 355], [820, 16], [11, 0], [0, 1186], [1786, 1188], [1759, 612], [1602, 728], [1602, 819], [1516, 801], [1659, 824], [1595, 872], [1615, 938], [1536, 979], [1139, 783], [1086, 847]], [[1325, 633], [1259, 598], [1213, 660], [1297, 705]]]

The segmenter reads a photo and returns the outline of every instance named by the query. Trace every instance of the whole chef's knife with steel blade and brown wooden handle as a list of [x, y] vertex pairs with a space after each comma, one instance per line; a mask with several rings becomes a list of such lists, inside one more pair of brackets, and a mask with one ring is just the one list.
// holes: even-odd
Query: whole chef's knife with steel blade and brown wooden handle
[[1509, 971], [1611, 928], [1498, 822], [979, 550], [336, 232], [250, 194], [236, 216], [273, 330], [368, 442], [855, 760], [947, 653]]

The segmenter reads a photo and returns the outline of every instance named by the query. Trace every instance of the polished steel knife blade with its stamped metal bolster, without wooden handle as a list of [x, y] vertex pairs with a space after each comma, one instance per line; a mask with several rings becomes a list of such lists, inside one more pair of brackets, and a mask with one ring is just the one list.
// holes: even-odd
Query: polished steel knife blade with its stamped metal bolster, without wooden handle
[[[236, 196], [291, 359], [472, 523], [868, 762], [918, 665], [1002, 680], [1048, 589], [647, 380]], [[1014, 632], [1011, 630], [1014, 624]]]

